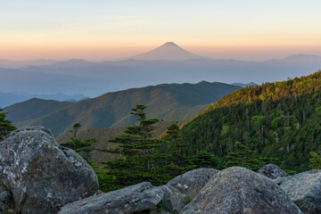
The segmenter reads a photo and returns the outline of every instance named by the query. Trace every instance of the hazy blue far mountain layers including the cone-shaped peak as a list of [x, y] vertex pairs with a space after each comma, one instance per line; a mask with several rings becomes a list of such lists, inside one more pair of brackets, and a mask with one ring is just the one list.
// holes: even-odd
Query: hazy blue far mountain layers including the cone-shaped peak
[[149, 53], [121, 61], [0, 61], [1, 67], [0, 92], [3, 93], [22, 91], [38, 94], [41, 91], [43, 94], [93, 97], [164, 82], [196, 83], [203, 79], [226, 83], [274, 82], [317, 71], [321, 68], [321, 57], [297, 54], [266, 62], [210, 59], [189, 53], [174, 43], [166, 43]]

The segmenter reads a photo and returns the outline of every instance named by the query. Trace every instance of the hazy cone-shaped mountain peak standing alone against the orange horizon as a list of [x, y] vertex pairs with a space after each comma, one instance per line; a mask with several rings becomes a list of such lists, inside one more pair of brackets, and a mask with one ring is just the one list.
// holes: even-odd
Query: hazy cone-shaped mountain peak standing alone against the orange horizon
[[152, 60], [184, 61], [184, 60], [191, 60], [191, 59], [202, 59], [204, 57], [185, 51], [183, 48], [181, 48], [180, 46], [176, 45], [173, 42], [167, 42], [164, 45], [161, 45], [150, 52], [135, 55], [130, 58], [134, 60], [146, 60], [146, 61], [152, 61]]

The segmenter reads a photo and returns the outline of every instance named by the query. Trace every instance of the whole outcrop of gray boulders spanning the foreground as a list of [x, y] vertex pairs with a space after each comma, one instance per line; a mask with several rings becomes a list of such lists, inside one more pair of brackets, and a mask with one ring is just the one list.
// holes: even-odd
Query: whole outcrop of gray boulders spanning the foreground
[[259, 173], [194, 169], [168, 185], [144, 182], [102, 193], [95, 171], [77, 152], [57, 144], [50, 130], [21, 128], [0, 142], [0, 212], [14, 207], [22, 214], [317, 214], [321, 170], [288, 176], [273, 164]]

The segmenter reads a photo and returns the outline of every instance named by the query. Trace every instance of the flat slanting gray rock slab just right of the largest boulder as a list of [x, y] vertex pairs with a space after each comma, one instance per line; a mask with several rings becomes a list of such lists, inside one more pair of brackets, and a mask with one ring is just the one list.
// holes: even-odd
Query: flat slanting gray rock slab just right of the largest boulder
[[162, 198], [163, 191], [160, 187], [143, 182], [72, 202], [62, 207], [58, 214], [128, 214], [143, 211], [148, 213], [156, 210]]

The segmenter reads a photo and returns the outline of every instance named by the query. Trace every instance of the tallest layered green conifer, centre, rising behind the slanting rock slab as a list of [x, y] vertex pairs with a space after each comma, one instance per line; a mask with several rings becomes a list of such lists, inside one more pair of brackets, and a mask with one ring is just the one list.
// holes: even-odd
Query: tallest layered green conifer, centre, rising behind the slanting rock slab
[[[134, 185], [143, 181], [152, 182], [153, 185], [162, 185], [171, 177], [161, 174], [157, 166], [155, 148], [160, 141], [152, 137], [153, 126], [159, 119], [147, 119], [144, 109], [146, 105], [138, 104], [132, 109], [138, 124], [130, 126], [124, 131], [124, 135], [114, 137], [110, 142], [119, 144], [116, 150], [103, 150], [103, 152], [115, 152], [121, 156], [115, 161], [106, 161], [106, 176], [112, 176], [111, 185], [114, 189], [127, 185]], [[102, 151], [102, 150], [100, 150]]]

